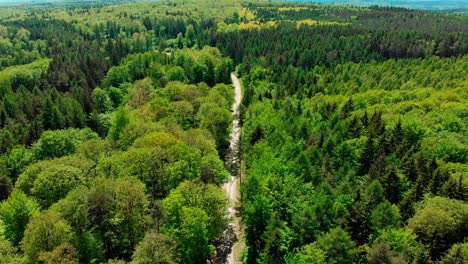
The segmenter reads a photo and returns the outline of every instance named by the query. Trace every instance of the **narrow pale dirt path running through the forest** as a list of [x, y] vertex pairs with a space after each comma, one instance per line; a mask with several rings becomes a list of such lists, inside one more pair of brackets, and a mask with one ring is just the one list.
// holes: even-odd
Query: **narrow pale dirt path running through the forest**
[[231, 74], [232, 83], [234, 84], [234, 104], [232, 106], [232, 130], [229, 145], [229, 152], [226, 157], [226, 167], [231, 172], [231, 178], [228, 182], [223, 184], [223, 189], [229, 198], [229, 218], [230, 227], [235, 235], [235, 243], [231, 246], [230, 253], [225, 260], [227, 264], [242, 263], [240, 260], [241, 252], [244, 249], [244, 232], [240, 225], [240, 219], [237, 216], [237, 206], [240, 201], [240, 162], [239, 162], [239, 139], [241, 133], [240, 120], [239, 120], [239, 106], [242, 100], [242, 87], [239, 79]]

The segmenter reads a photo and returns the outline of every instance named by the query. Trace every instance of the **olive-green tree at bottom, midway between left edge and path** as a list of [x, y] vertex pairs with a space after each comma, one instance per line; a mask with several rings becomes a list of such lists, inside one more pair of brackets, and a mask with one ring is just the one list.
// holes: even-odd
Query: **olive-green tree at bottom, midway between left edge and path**
[[144, 236], [147, 206], [145, 186], [137, 179], [96, 179], [88, 194], [88, 215], [106, 257], [131, 256]]

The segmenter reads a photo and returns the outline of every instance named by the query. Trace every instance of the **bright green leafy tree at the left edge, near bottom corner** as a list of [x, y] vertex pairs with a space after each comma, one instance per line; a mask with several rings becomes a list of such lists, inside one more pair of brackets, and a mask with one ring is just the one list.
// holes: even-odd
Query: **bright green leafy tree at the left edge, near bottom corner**
[[0, 205], [0, 218], [4, 226], [4, 236], [13, 245], [23, 238], [23, 232], [30, 217], [38, 212], [39, 204], [26, 196], [22, 191], [15, 190], [11, 196]]

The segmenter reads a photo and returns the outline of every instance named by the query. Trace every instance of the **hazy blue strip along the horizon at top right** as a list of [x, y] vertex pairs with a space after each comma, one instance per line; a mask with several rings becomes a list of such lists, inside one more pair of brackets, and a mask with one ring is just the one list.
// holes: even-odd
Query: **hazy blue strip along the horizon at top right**
[[468, 0], [280, 0], [275, 2], [284, 1], [356, 6], [398, 6], [428, 10], [468, 9]]

